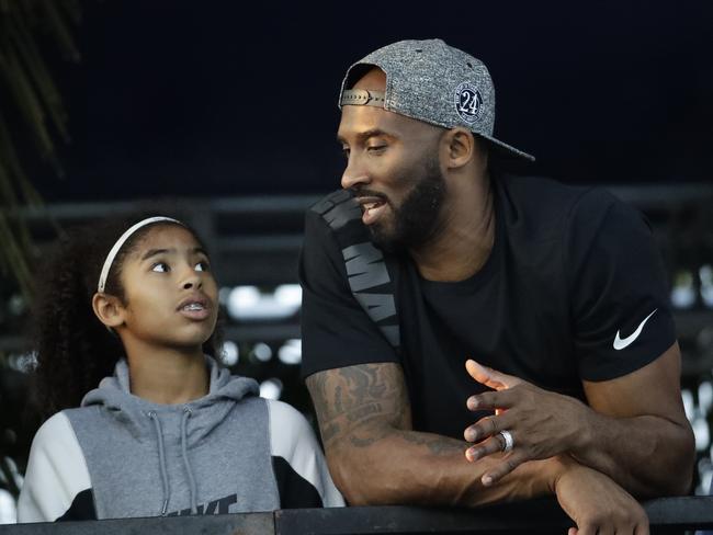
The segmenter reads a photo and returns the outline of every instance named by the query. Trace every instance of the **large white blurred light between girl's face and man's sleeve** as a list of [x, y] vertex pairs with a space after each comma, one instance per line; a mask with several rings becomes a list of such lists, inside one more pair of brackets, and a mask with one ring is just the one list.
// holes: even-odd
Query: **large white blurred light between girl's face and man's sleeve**
[[257, 286], [236, 286], [227, 298], [226, 308], [237, 320], [274, 320], [293, 316], [301, 303], [298, 284], [283, 284], [268, 294], [260, 293]]

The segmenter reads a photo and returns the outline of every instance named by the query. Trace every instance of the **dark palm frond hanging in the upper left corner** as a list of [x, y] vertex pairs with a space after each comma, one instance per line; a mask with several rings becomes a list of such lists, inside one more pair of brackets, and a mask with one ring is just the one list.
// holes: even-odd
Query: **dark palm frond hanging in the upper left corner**
[[0, 271], [26, 298], [33, 243], [23, 208], [42, 209], [43, 201], [18, 147], [64, 174], [55, 139], [69, 141], [67, 112], [38, 42], [49, 38], [65, 59], [78, 61], [71, 30], [80, 19], [78, 0], [0, 0]]

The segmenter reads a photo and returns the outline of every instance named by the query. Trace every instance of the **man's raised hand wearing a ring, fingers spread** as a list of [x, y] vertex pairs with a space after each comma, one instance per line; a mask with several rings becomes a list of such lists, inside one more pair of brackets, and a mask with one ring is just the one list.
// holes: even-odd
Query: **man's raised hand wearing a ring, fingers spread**
[[500, 431], [508, 431], [514, 444], [501, 463], [484, 474], [483, 485], [494, 483], [528, 460], [545, 459], [577, 447], [590, 412], [582, 402], [472, 360], [465, 367], [475, 380], [495, 390], [468, 398], [468, 409], [496, 411], [496, 416], [480, 419], [463, 433], [466, 441], [478, 443], [466, 451], [466, 457], [477, 460], [501, 452], [505, 443]]

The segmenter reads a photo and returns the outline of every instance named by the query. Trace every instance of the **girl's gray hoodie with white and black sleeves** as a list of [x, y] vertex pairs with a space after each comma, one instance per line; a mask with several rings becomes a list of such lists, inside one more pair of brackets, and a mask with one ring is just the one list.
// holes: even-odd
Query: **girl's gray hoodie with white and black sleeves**
[[37, 431], [20, 522], [343, 505], [304, 417], [206, 357], [210, 390], [184, 405], [131, 394], [116, 364], [78, 409]]

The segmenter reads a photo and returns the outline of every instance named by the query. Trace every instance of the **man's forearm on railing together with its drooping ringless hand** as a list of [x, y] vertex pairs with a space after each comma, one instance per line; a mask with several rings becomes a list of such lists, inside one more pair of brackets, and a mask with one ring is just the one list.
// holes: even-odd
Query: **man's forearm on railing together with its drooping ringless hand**
[[392, 431], [364, 442], [353, 436], [363, 451], [352, 449], [349, 459], [340, 459], [344, 473], [335, 479], [346, 485], [342, 492], [348, 489], [352, 505], [475, 506], [555, 494], [580, 533], [648, 533], [646, 513], [629, 493], [568, 455], [523, 463], [484, 487], [480, 478], [497, 456], [464, 463], [460, 441]]

